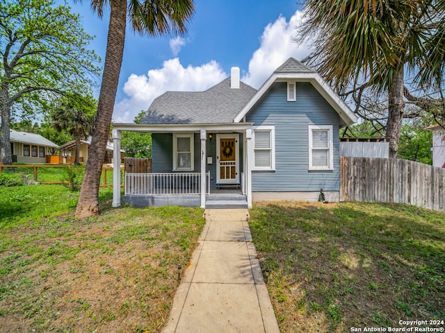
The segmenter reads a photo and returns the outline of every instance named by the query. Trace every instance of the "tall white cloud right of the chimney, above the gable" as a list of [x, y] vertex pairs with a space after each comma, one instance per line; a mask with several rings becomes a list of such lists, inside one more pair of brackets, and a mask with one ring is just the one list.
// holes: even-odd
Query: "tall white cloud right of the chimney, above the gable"
[[303, 12], [297, 10], [289, 22], [280, 16], [273, 24], [268, 24], [261, 35], [261, 44], [254, 51], [249, 62], [248, 73], [241, 80], [259, 88], [277, 67], [288, 58], [301, 60], [309, 55], [307, 44], [296, 44], [292, 38], [296, 35], [296, 26], [302, 22]]

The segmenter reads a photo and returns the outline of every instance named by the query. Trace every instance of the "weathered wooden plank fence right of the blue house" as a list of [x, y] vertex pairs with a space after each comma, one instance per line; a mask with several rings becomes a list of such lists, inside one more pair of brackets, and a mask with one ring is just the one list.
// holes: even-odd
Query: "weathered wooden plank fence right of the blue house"
[[340, 200], [407, 203], [445, 212], [445, 169], [408, 160], [340, 157]]

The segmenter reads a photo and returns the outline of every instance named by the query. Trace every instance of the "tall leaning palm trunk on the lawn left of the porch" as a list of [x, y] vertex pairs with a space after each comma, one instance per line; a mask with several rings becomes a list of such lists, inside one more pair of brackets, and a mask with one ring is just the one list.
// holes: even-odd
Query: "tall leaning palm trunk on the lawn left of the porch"
[[88, 151], [85, 176], [83, 176], [81, 194], [76, 209], [76, 217], [79, 218], [99, 214], [100, 175], [105, 158], [106, 142], [110, 131], [116, 92], [118, 91], [120, 67], [124, 55], [127, 0], [112, 0], [110, 1], [110, 6], [111, 13], [108, 25], [102, 87], [99, 94], [90, 150]]

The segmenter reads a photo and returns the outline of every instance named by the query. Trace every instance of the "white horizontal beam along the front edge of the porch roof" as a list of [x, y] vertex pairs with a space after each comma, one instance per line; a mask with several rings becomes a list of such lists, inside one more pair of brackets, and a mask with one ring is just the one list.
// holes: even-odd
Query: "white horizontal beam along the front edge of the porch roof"
[[149, 123], [113, 123], [113, 130], [127, 130], [140, 133], [175, 133], [175, 132], [244, 132], [252, 128], [253, 123], [191, 123], [191, 124], [149, 124]]

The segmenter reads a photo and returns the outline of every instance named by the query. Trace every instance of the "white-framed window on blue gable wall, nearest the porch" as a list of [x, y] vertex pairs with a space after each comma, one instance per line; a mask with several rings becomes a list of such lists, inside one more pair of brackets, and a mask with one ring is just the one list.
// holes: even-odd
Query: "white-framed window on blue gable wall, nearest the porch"
[[275, 126], [258, 126], [253, 134], [253, 170], [275, 170]]

